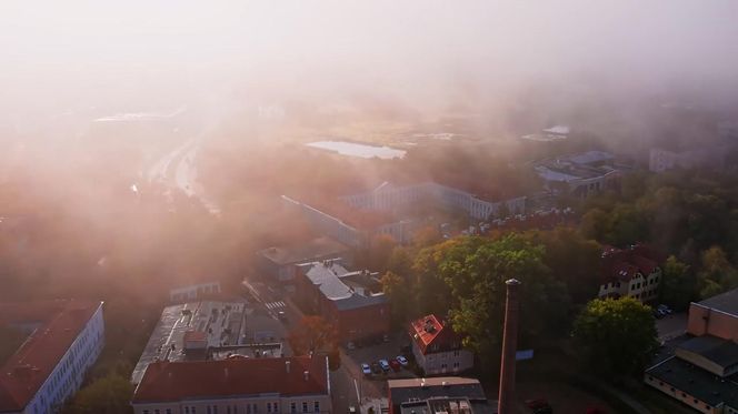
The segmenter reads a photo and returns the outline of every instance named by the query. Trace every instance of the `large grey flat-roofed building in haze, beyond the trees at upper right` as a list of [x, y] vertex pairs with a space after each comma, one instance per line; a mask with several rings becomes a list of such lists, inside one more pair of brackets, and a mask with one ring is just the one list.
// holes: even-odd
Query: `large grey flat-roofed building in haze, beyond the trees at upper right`
[[604, 151], [546, 159], [535, 165], [549, 191], [587, 199], [605, 190], [618, 190], [624, 168]]

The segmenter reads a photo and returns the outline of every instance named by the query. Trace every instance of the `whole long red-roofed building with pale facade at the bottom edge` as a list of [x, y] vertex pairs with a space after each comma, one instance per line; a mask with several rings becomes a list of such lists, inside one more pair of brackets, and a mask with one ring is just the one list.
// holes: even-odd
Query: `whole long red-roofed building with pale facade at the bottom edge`
[[136, 387], [136, 414], [330, 413], [327, 357], [232, 357], [150, 364]]

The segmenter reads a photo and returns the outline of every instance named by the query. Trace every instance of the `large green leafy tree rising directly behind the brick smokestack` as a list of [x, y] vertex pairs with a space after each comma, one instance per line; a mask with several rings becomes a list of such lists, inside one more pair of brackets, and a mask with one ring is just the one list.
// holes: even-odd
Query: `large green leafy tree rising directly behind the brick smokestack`
[[497, 240], [457, 238], [425, 255], [436, 277], [450, 287], [445, 302], [453, 329], [465, 335], [465, 344], [486, 368], [498, 362], [506, 280], [516, 277], [523, 285], [522, 341], [536, 341], [562, 326], [569, 299], [564, 284], [550, 276], [542, 255], [541, 245], [517, 234]]

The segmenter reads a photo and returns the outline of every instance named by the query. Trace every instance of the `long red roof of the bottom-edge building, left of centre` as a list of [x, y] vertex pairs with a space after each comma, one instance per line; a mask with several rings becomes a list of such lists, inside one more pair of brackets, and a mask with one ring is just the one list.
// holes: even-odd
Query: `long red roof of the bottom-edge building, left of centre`
[[[290, 363], [289, 373], [287, 362]], [[132, 403], [279, 393], [328, 394], [327, 359], [319, 356], [154, 362], [149, 364]], [[308, 378], [305, 372], [309, 372]]]

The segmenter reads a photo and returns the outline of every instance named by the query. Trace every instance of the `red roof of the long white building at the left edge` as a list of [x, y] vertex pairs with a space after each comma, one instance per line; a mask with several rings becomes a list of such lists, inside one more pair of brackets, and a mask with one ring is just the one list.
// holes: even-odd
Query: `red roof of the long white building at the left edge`
[[2, 365], [0, 412], [22, 411], [102, 302], [57, 300], [0, 303], [1, 325], [38, 324]]

